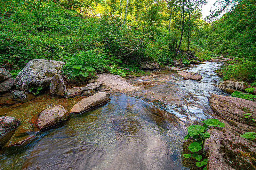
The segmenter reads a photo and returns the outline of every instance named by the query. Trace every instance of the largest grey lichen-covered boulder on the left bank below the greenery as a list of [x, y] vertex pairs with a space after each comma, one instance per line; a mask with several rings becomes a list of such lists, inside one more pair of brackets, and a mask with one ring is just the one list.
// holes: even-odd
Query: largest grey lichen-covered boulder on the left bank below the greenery
[[17, 74], [16, 89], [28, 91], [30, 88], [49, 89], [54, 74], [60, 74], [65, 63], [62, 61], [34, 59]]

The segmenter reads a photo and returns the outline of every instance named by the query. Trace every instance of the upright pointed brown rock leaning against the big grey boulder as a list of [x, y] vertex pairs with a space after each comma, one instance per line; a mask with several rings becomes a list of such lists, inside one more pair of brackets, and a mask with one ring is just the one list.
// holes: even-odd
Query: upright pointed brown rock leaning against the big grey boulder
[[59, 96], [65, 95], [65, 83], [60, 74], [55, 74], [52, 77], [50, 92], [53, 95], [59, 95]]

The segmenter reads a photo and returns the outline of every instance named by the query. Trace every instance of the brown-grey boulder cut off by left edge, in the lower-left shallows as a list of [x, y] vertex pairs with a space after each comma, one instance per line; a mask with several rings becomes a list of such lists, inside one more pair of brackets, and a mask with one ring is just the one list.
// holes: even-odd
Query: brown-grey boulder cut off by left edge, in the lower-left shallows
[[14, 117], [0, 117], [0, 148], [12, 137], [19, 124], [20, 121]]

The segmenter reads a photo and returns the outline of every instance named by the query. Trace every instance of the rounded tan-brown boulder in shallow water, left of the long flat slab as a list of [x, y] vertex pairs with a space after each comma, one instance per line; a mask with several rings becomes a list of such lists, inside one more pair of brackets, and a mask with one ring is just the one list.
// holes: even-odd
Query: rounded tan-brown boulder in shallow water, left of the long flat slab
[[45, 129], [68, 120], [69, 112], [61, 105], [52, 106], [43, 110], [37, 120], [37, 127]]

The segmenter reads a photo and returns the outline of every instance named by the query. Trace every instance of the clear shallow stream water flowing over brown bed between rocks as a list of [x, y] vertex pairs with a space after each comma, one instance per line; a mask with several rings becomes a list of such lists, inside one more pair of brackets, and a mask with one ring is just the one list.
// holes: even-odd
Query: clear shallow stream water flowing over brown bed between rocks
[[[188, 169], [182, 165], [186, 128], [212, 117], [209, 93], [227, 95], [212, 83], [220, 63], [200, 64], [189, 71], [203, 79], [183, 80], [176, 72], [160, 70], [153, 77], [128, 80], [137, 92], [114, 93], [106, 105], [45, 131], [33, 131], [35, 115], [52, 105], [66, 110], [79, 98], [47, 94], [0, 107], [0, 116], [21, 124], [6, 145], [29, 137], [21, 146], [0, 152], [1, 169]], [[148, 84], [147, 84], [148, 83]], [[2, 96], [3, 97], [3, 96]], [[19, 133], [26, 129], [26, 134]]]

